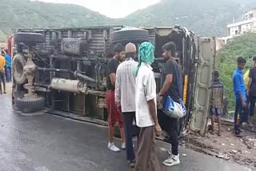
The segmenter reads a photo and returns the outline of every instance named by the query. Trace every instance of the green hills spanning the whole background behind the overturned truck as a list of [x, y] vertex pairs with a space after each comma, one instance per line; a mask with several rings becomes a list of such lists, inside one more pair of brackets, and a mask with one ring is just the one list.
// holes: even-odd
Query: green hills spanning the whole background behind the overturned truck
[[102, 25], [186, 26], [203, 36], [226, 35], [226, 24], [238, 21], [256, 0], [162, 0], [126, 18], [111, 19], [82, 6], [29, 0], [1, 0], [0, 42], [18, 28]]

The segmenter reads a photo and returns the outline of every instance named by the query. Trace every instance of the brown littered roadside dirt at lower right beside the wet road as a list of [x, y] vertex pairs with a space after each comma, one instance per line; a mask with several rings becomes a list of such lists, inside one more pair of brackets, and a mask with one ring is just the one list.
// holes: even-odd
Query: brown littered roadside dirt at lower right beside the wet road
[[[218, 125], [214, 126], [218, 128]], [[236, 137], [232, 124], [222, 124], [221, 137], [210, 132], [204, 137], [190, 131], [182, 133], [180, 145], [239, 165], [256, 168], [256, 133], [243, 130], [242, 137]]]

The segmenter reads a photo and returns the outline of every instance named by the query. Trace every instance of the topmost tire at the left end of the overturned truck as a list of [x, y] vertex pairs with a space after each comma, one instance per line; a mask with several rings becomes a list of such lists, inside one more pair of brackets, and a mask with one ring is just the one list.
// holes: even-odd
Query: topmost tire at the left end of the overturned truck
[[42, 34], [18, 32], [14, 34], [14, 43], [22, 42], [26, 45], [34, 46], [37, 43], [45, 42], [45, 37]]

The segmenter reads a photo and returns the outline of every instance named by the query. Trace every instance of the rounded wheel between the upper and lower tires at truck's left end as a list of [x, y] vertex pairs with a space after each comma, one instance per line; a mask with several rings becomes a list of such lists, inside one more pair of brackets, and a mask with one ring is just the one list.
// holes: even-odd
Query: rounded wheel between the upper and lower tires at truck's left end
[[24, 66], [26, 65], [26, 59], [22, 54], [15, 54], [13, 60], [13, 77], [17, 84], [23, 84], [26, 82], [26, 75], [24, 74]]

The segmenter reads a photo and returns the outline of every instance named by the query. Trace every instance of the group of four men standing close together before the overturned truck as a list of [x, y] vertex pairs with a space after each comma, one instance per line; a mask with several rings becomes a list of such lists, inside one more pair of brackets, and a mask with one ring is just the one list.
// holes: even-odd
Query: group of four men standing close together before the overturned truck
[[[108, 109], [109, 143], [108, 149], [120, 152], [114, 145], [114, 125], [118, 123], [122, 149], [126, 149], [126, 158], [130, 167], [136, 171], [158, 171], [160, 165], [157, 157], [155, 136], [160, 136], [162, 129], [170, 136], [170, 157], [162, 163], [167, 166], [178, 165], [178, 119], [168, 117], [157, 104], [167, 95], [178, 102], [180, 87], [177, 84], [180, 66], [174, 60], [176, 45], [168, 42], [162, 46], [165, 68], [162, 89], [156, 93], [154, 72], [150, 66], [154, 62], [154, 46], [143, 42], [138, 50], [133, 43], [126, 47], [117, 44], [114, 57], [107, 64], [106, 104]], [[134, 131], [134, 121], [139, 133]], [[133, 136], [138, 133], [138, 152], [134, 153]], [[136, 157], [135, 157], [136, 156]]]

